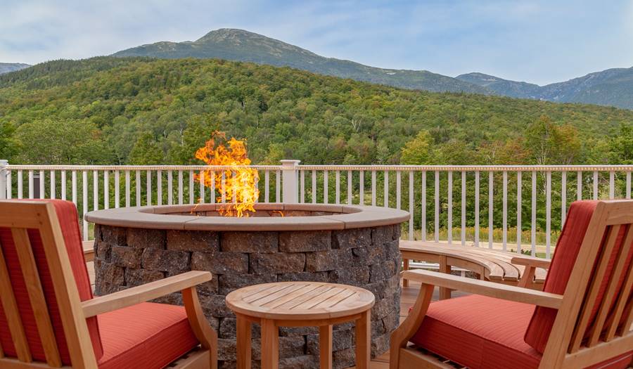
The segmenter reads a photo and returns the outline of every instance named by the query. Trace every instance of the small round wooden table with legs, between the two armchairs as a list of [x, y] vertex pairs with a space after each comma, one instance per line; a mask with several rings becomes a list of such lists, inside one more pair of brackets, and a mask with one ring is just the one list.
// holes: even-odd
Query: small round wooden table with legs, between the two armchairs
[[369, 368], [373, 293], [350, 285], [279, 282], [226, 295], [237, 317], [237, 367], [250, 368], [250, 325], [262, 327], [262, 369], [279, 367], [279, 327], [319, 327], [321, 368], [332, 368], [332, 325], [356, 322], [356, 368]]

